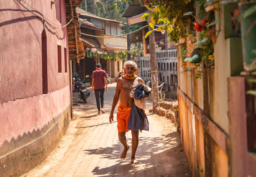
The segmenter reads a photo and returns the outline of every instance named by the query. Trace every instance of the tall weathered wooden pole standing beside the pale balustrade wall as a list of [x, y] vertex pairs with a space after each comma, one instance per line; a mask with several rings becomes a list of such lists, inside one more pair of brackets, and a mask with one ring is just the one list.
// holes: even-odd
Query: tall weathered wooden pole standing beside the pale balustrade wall
[[[148, 26], [148, 30], [152, 30], [152, 28]], [[159, 106], [158, 73], [157, 73], [155, 43], [156, 43], [155, 33], [153, 30], [149, 35], [149, 47], [150, 47], [150, 65], [151, 65], [152, 103], [153, 103], [154, 112], [156, 112], [156, 107]]]

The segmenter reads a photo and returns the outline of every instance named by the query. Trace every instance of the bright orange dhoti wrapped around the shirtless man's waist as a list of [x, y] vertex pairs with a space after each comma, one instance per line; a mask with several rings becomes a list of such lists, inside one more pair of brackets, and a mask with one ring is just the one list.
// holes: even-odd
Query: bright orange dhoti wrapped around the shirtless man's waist
[[131, 114], [131, 106], [125, 107], [121, 102], [118, 104], [118, 113], [116, 120], [118, 122], [118, 132], [128, 132], [127, 129], [129, 117]]

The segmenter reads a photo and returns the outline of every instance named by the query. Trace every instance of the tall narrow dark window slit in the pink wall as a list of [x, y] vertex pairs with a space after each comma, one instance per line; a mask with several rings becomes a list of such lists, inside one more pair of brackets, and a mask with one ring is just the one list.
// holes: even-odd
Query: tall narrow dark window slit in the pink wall
[[42, 86], [43, 86], [43, 94], [47, 94], [48, 93], [47, 38], [46, 38], [45, 30], [43, 30], [41, 37], [42, 37]]

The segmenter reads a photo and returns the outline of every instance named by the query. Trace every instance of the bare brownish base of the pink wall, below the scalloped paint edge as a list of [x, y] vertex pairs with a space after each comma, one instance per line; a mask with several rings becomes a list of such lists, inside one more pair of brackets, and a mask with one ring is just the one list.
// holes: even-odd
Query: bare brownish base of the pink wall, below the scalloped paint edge
[[70, 122], [70, 107], [41, 130], [23, 134], [0, 148], [0, 177], [18, 177], [44, 161], [59, 144]]

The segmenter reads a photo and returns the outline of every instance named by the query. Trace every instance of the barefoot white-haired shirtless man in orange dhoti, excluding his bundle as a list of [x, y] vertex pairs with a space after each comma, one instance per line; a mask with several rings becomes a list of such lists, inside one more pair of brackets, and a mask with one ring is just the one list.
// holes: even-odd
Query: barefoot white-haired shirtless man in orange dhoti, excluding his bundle
[[[118, 104], [118, 113], [117, 113], [117, 122], [118, 122], [118, 138], [122, 143], [124, 150], [120, 155], [121, 159], [125, 159], [129, 146], [126, 142], [125, 133], [129, 131], [127, 129], [129, 117], [131, 114], [131, 106], [133, 105], [134, 99], [130, 97], [130, 92], [133, 90], [133, 87], [136, 86], [139, 82], [143, 80], [134, 74], [137, 70], [137, 64], [134, 61], [127, 61], [124, 63], [124, 68], [126, 75], [118, 78], [115, 96], [113, 98], [112, 109], [109, 116], [110, 124], [114, 121], [113, 112], [118, 103], [120, 97], [120, 103]], [[138, 147], [138, 130], [131, 130], [132, 134], [132, 152], [131, 152], [131, 162], [133, 164], [138, 164], [139, 162], [135, 159], [135, 153]]]

